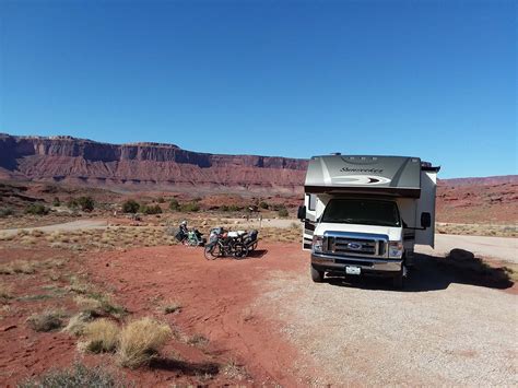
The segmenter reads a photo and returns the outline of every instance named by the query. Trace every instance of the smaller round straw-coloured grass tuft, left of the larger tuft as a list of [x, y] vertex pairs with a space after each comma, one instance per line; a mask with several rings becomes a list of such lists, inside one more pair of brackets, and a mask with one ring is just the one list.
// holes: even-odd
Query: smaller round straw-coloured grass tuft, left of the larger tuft
[[92, 353], [114, 352], [119, 338], [118, 326], [108, 319], [97, 319], [83, 329], [85, 341], [81, 346]]

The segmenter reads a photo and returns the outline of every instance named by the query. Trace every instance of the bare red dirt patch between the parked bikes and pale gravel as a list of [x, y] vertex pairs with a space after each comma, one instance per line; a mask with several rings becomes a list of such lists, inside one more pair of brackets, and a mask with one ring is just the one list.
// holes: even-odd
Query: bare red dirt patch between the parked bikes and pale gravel
[[[208, 261], [201, 249], [154, 247], [94, 257], [89, 267], [92, 278], [111, 286], [136, 316], [152, 313], [149, 301], [178, 301], [183, 310], [174, 316], [174, 325], [189, 334], [203, 334], [210, 353], [245, 365], [255, 384], [304, 384], [304, 376], [316, 371], [294, 369], [293, 361], [301, 355], [274, 334], [279, 324], [272, 311], [256, 310], [252, 303], [259, 281], [270, 271], [306, 271], [307, 254], [293, 244], [269, 244], [266, 254]], [[166, 377], [166, 373], [150, 381], [139, 377], [139, 383], [163, 383]]]

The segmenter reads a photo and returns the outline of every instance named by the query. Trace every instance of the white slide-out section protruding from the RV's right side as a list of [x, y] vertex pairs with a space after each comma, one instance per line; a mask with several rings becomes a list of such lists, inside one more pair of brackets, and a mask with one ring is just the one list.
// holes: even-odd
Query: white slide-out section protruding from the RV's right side
[[[437, 185], [436, 171], [421, 172], [421, 197], [417, 201], [416, 222], [423, 219], [423, 213], [429, 213], [429, 226], [424, 230], [415, 231], [415, 244], [435, 245], [435, 193]], [[427, 215], [424, 216], [427, 219]], [[416, 225], [421, 226], [421, 225]]]

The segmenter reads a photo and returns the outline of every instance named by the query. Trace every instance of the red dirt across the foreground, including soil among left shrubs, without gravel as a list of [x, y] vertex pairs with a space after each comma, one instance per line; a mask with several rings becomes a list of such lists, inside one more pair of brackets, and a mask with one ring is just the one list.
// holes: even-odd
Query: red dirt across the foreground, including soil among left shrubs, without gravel
[[[59, 256], [70, 252], [3, 249], [0, 263], [21, 257], [38, 260]], [[129, 319], [154, 316], [166, 320], [183, 340], [169, 341], [162, 352], [164, 358], [152, 367], [120, 369], [111, 355], [79, 353], [76, 339], [67, 333], [35, 333], [25, 325], [27, 316], [49, 306], [72, 311], [70, 297], [13, 302], [13, 314], [0, 320], [0, 386], [14, 386], [26, 376], [68, 366], [74, 358], [89, 365], [102, 363], [138, 386], [306, 386], [311, 376], [325, 376], [282, 337], [280, 311], [255, 304], [270, 277], [282, 272], [289, 281], [291, 277], [307, 274], [308, 254], [296, 243], [264, 243], [254, 257], [244, 260], [208, 261], [200, 248], [167, 246], [85, 252], [70, 262], [68, 271], [89, 272], [93, 284], [113, 293], [116, 302], [129, 310]], [[17, 297], [49, 292], [43, 289], [48, 281], [38, 273], [20, 277], [10, 278], [16, 282], [13, 294]], [[69, 283], [59, 280], [54, 284], [64, 290]], [[513, 293], [516, 284], [505, 291]], [[181, 305], [179, 314], [163, 314], [161, 304], [168, 299]], [[186, 339], [200, 334], [208, 339], [207, 344], [187, 343]], [[225, 374], [228, 364], [244, 366], [249, 376], [236, 378]]]

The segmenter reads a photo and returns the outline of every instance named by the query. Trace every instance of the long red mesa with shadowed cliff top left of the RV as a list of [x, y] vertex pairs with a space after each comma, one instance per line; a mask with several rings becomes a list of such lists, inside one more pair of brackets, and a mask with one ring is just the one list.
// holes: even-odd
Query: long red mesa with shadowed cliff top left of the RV
[[216, 155], [173, 144], [106, 144], [71, 137], [0, 134], [0, 178], [129, 189], [301, 192], [307, 162]]

